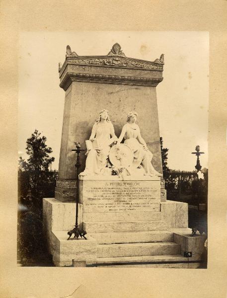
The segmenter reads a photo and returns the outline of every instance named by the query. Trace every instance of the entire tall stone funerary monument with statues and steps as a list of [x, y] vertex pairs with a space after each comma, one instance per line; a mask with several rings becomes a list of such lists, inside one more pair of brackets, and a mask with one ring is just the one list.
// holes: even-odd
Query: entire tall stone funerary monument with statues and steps
[[[163, 65], [163, 54], [154, 62], [127, 58], [117, 43], [106, 56], [78, 56], [67, 46], [59, 177], [55, 199], [43, 200], [56, 266], [199, 266], [205, 237], [190, 236], [187, 204], [166, 201], [156, 99]], [[87, 148], [78, 189], [75, 141]], [[87, 239], [67, 240], [77, 191]]]

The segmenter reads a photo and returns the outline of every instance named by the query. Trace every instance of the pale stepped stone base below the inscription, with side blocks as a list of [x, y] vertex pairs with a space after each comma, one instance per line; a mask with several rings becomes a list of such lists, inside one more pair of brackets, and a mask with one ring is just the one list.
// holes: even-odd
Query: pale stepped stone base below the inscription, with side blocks
[[[191, 236], [186, 203], [166, 201], [160, 203], [159, 211], [133, 212], [134, 226], [132, 212], [113, 212], [115, 221], [109, 218], [113, 229], [110, 226], [107, 229], [106, 225], [110, 213], [86, 214], [79, 204], [80, 226], [87, 218], [90, 221], [88, 240], [67, 240], [67, 232], [74, 226], [76, 203], [51, 198], [43, 199], [43, 206], [44, 231], [55, 266], [198, 268], [201, 265], [206, 235]], [[97, 231], [97, 219], [105, 231]], [[138, 223], [140, 228], [135, 230]], [[163, 230], [153, 230], [155, 223], [164, 224]], [[121, 224], [128, 225], [127, 231], [120, 228]], [[188, 251], [192, 257], [184, 257]]]

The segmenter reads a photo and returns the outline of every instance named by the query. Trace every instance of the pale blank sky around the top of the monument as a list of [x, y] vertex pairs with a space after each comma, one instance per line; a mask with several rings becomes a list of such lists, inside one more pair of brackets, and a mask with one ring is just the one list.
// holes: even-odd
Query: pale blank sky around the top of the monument
[[201, 165], [208, 167], [209, 33], [191, 31], [21, 33], [18, 156], [27, 158], [26, 140], [37, 129], [53, 150], [52, 169], [58, 169], [65, 99], [58, 63], [64, 63], [68, 44], [80, 56], [101, 56], [116, 42], [127, 57], [154, 61], [164, 54], [164, 78], [156, 93], [168, 166], [194, 170], [196, 156], [191, 152], [200, 145], [205, 152]]

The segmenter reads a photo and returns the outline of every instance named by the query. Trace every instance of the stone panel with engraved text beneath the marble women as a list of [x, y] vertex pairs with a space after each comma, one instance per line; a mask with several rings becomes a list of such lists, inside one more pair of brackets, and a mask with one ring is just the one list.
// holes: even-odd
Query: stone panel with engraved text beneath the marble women
[[84, 180], [84, 213], [158, 211], [160, 181], [90, 181]]

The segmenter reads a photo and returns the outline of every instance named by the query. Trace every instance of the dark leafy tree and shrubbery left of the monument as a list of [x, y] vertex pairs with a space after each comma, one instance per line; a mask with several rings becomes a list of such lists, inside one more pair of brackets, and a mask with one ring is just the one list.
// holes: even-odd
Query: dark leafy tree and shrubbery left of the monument
[[26, 264], [29, 258], [46, 254], [46, 242], [42, 232], [42, 199], [54, 197], [57, 171], [49, 171], [55, 160], [47, 138], [35, 130], [26, 141], [27, 161], [18, 161], [18, 258]]

